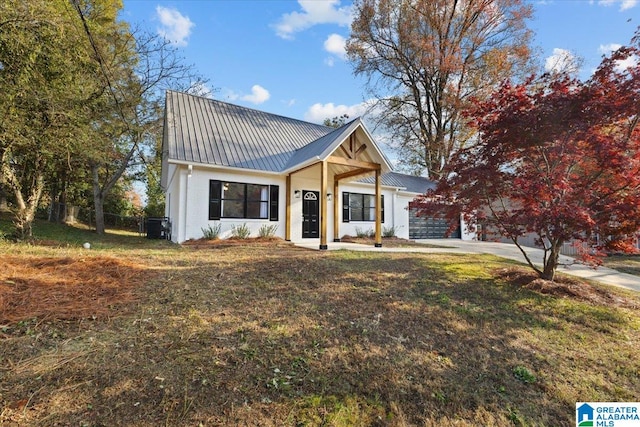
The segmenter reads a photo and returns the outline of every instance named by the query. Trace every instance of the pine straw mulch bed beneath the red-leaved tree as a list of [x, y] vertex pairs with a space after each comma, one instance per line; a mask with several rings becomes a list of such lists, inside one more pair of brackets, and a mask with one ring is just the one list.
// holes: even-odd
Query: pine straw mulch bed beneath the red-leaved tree
[[605, 306], [639, 308], [637, 300], [614, 295], [606, 289], [594, 287], [581, 279], [562, 274], [556, 275], [554, 281], [541, 279], [534, 271], [524, 267], [501, 268], [495, 274], [515, 286], [545, 295], [571, 298]]

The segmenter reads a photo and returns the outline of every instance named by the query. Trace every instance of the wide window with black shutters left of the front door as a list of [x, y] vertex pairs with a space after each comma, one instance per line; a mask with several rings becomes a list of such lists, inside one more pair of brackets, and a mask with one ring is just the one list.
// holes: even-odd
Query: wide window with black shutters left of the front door
[[278, 186], [209, 181], [209, 219], [278, 220]]

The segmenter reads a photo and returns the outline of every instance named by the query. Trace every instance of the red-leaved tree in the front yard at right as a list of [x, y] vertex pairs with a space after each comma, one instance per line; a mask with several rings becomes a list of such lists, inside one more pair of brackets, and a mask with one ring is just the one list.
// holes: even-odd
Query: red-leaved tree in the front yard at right
[[[421, 214], [460, 212], [509, 237], [541, 278], [553, 280], [566, 242], [629, 252], [640, 230], [640, 29], [630, 46], [590, 80], [546, 75], [505, 83], [468, 116], [478, 130], [438, 187], [418, 199]], [[544, 249], [534, 265], [521, 245], [533, 233]]]

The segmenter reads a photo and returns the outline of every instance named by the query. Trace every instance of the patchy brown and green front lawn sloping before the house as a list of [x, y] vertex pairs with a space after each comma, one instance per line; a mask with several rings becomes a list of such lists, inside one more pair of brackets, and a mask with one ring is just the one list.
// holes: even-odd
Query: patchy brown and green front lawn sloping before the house
[[570, 426], [576, 401], [640, 394], [637, 295], [542, 294], [492, 257], [38, 250], [8, 280], [48, 289], [44, 269], [47, 283], [82, 270], [107, 312], [54, 299], [5, 325], [1, 425]]

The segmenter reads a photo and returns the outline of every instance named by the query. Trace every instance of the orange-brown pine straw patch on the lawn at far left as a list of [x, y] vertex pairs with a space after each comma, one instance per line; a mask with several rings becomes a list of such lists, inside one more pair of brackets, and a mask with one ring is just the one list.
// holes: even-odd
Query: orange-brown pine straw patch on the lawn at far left
[[0, 324], [101, 318], [137, 299], [143, 267], [112, 257], [3, 256]]

